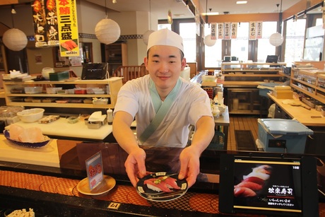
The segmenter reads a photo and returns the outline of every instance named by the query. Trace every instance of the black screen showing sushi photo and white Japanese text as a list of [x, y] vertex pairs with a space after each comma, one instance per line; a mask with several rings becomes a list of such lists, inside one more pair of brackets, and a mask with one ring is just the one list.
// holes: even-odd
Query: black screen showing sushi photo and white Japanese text
[[235, 161], [234, 207], [300, 212], [300, 175], [299, 162]]

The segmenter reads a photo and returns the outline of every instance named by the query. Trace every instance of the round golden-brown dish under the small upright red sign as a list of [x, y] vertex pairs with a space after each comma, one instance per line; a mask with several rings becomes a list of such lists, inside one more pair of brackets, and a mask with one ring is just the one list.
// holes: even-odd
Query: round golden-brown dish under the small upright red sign
[[88, 178], [84, 178], [78, 183], [77, 190], [78, 192], [81, 192], [81, 194], [100, 195], [110, 192], [110, 190], [115, 186], [115, 184], [116, 181], [113, 177], [110, 177], [109, 175], [104, 175], [104, 180], [102, 180], [102, 183], [100, 183], [98, 187], [95, 187], [94, 189], [90, 190]]

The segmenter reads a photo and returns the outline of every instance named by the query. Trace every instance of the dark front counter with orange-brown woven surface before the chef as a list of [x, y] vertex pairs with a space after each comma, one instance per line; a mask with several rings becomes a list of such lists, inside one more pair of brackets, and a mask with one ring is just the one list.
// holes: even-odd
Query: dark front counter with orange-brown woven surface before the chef
[[[131, 186], [124, 168], [127, 154], [117, 143], [54, 142], [57, 143], [59, 165], [27, 164], [18, 159], [17, 162], [0, 161], [0, 211], [32, 208], [36, 216], [230, 216], [219, 211], [220, 172], [223, 172], [220, 156], [225, 153], [255, 155], [252, 152], [206, 150], [200, 159], [201, 174], [196, 184], [177, 199], [169, 197], [164, 200], [161, 197], [162, 201], [156, 201], [141, 196], [138, 188]], [[175, 156], [182, 151], [182, 148], [143, 148], [147, 153], [147, 170], [163, 170], [168, 174], [175, 170]], [[28, 152], [27, 149], [24, 151]], [[78, 186], [87, 177], [85, 160], [98, 151], [102, 152], [105, 177], [115, 182], [103, 194], [88, 194]], [[287, 155], [281, 154], [280, 158], [283, 156]], [[321, 177], [321, 182], [325, 182], [324, 177]], [[325, 212], [323, 200], [320, 198], [320, 203], [315, 206], [319, 207], [319, 213]], [[242, 214], [232, 213], [231, 216]], [[249, 216], [265, 215], [256, 213]]]

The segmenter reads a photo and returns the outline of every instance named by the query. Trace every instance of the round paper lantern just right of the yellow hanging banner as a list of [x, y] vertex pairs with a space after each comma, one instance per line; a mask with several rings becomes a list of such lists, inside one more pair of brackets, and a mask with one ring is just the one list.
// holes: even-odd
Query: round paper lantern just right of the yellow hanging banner
[[95, 35], [98, 40], [105, 45], [116, 42], [121, 35], [119, 24], [114, 20], [105, 18], [100, 20], [95, 26]]

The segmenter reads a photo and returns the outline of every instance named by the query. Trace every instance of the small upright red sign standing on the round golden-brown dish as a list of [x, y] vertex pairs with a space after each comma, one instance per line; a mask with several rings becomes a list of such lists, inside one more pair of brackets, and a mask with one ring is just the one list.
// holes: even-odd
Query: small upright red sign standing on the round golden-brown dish
[[95, 153], [95, 155], [85, 160], [85, 168], [87, 170], [89, 189], [91, 191], [97, 187], [102, 180], [104, 180], [102, 169], [102, 152], [98, 151], [98, 153]]

